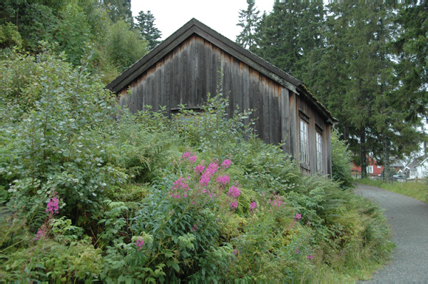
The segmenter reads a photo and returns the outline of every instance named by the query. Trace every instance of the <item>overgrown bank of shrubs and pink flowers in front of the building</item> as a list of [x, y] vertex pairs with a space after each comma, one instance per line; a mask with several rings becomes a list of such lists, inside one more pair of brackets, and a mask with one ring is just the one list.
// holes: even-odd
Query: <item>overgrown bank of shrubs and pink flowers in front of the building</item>
[[377, 206], [302, 176], [221, 92], [131, 115], [49, 49], [0, 66], [1, 279], [352, 280], [388, 258]]

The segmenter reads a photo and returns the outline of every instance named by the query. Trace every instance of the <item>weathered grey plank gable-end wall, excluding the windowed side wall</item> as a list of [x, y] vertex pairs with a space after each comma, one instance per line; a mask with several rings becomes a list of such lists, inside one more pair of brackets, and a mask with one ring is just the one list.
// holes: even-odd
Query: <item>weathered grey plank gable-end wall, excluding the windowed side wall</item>
[[203, 106], [207, 94], [214, 96], [217, 92], [220, 69], [223, 93], [230, 99], [230, 116], [237, 104], [241, 110], [254, 108], [260, 138], [280, 143], [284, 87], [195, 35], [133, 81], [129, 86], [131, 95], [123, 89], [120, 104], [133, 113], [146, 105], [153, 106], [153, 111], [167, 106], [168, 112], [180, 104], [188, 108]]

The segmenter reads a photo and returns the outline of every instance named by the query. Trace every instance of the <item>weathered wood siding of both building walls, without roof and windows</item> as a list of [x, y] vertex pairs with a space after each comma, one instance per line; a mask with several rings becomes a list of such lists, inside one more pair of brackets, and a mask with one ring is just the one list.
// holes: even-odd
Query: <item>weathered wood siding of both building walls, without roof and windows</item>
[[[325, 131], [323, 138], [326, 139], [325, 143], [323, 141], [323, 173], [331, 173], [327, 171], [330, 125], [295, 93], [198, 35], [190, 36], [133, 80], [128, 86], [131, 94], [123, 88], [119, 101], [133, 113], [146, 105], [153, 106], [153, 111], [157, 111], [159, 106], [166, 106], [168, 114], [171, 108], [180, 104], [198, 108], [203, 106], [208, 93], [215, 95], [220, 83], [220, 70], [223, 71], [223, 93], [230, 98], [230, 116], [236, 105], [241, 110], [255, 109], [253, 118], [258, 118], [255, 121], [258, 136], [266, 143], [285, 141], [284, 151], [295, 158], [298, 158], [300, 143], [298, 113], [299, 110], [307, 113], [311, 118], [310, 137], [313, 136], [310, 138], [310, 156], [315, 156], [315, 125], [318, 125]], [[308, 173], [315, 173], [315, 162], [311, 160], [309, 167]]]

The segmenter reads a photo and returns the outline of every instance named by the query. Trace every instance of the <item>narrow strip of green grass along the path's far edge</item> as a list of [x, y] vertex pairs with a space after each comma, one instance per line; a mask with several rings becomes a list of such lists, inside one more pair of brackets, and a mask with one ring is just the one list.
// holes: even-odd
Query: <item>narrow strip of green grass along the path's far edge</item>
[[426, 181], [407, 181], [407, 183], [384, 183], [382, 181], [374, 181], [367, 178], [358, 180], [368, 186], [376, 186], [387, 191], [402, 194], [417, 199], [418, 201], [428, 202], [428, 183]]

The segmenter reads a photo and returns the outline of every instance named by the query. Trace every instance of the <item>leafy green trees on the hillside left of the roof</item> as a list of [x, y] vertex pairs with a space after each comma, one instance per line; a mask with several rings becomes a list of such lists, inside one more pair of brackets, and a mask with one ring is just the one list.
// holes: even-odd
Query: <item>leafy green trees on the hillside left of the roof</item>
[[[133, 26], [131, 11], [118, 14], [117, 4], [2, 3], [0, 47], [39, 54], [54, 44], [73, 66], [86, 67], [104, 84], [141, 59], [148, 41]], [[6, 53], [7, 54], [7, 53]]]

